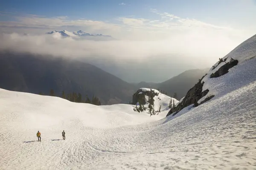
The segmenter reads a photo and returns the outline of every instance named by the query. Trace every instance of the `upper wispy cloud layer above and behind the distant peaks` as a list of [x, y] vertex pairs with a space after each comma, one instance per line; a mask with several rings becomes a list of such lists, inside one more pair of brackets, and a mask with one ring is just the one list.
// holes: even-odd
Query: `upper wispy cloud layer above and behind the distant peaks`
[[[47, 30], [83, 30], [89, 33], [108, 34], [122, 40], [162, 40], [171, 38], [183, 32], [207, 32], [208, 34], [229, 34], [248, 37], [253, 34], [248, 30], [237, 30], [227, 26], [216, 26], [200, 20], [181, 18], [167, 12], [160, 13], [151, 9], [157, 19], [119, 17], [112, 21], [77, 19], [71, 20], [67, 16], [44, 17], [36, 15], [13, 16], [12, 21], [0, 21], [1, 32], [17, 32], [26, 29], [26, 33], [44, 33]], [[5, 13], [6, 14], [6, 13]]]

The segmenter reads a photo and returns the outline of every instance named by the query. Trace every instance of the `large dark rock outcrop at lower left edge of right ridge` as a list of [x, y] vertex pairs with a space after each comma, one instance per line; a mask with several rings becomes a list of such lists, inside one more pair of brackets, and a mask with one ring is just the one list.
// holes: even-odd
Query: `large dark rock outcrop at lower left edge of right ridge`
[[182, 100], [182, 102], [180, 102], [175, 108], [170, 109], [170, 111], [168, 112], [168, 114], [166, 116], [169, 116], [172, 113], [177, 114], [179, 111], [181, 111], [183, 108], [186, 108], [189, 105], [194, 104], [194, 107], [197, 107], [199, 105], [198, 100], [201, 99], [202, 97], [206, 96], [207, 93], [209, 92], [208, 89], [203, 91], [204, 82], [201, 82], [201, 81], [204, 77], [199, 79], [198, 83], [196, 83], [195, 86], [192, 87], [187, 92], [187, 94], [184, 97], [184, 99]]

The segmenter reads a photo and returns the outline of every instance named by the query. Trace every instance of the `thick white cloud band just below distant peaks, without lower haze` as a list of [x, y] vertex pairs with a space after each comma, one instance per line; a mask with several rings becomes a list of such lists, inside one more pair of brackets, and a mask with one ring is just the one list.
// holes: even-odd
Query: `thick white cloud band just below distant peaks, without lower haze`
[[[187, 32], [171, 39], [157, 41], [91, 41], [63, 38], [60, 34], [24, 36], [3, 34], [0, 37], [0, 50], [51, 54], [63, 57], [108, 57], [113, 60], [144, 61], [148, 57], [182, 55], [182, 60], [195, 59], [212, 62], [231, 51], [238, 41], [224, 36], [207, 35], [201, 32]], [[216, 50], [218, 49], [218, 50]], [[175, 59], [175, 58], [172, 58]], [[177, 59], [177, 58], [176, 58]], [[198, 62], [200, 62], [198, 60]]]

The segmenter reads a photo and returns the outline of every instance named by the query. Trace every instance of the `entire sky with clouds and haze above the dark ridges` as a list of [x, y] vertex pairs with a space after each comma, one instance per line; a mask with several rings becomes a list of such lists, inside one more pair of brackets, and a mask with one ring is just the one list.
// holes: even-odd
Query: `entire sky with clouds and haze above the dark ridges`
[[[6, 48], [67, 57], [95, 54], [94, 64], [127, 81], [134, 74], [122, 69], [140, 70], [148, 79], [138, 79], [160, 82], [187, 69], [211, 67], [256, 34], [255, 18], [256, 0], [0, 0], [0, 33], [30, 35], [4, 37]], [[111, 35], [120, 42], [38, 37], [64, 29]], [[163, 65], [172, 74], [162, 74]]]

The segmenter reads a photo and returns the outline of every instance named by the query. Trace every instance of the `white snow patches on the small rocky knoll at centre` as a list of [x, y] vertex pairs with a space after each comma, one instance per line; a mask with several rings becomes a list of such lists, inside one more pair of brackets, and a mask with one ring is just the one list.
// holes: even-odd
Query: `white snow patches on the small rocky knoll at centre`
[[[172, 98], [170, 96], [167, 96], [165, 94], [160, 93], [160, 91], [156, 89], [150, 89], [150, 88], [140, 88], [142, 91], [150, 91], [153, 90], [155, 93], [158, 94], [158, 96], [154, 96], [154, 110], [158, 111], [161, 107], [161, 111], [166, 111], [169, 109], [169, 102], [172, 100], [174, 101], [175, 105], [179, 102], [177, 99]], [[145, 107], [148, 107], [148, 96], [145, 95], [146, 104]]]

